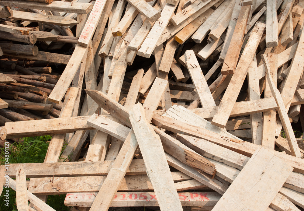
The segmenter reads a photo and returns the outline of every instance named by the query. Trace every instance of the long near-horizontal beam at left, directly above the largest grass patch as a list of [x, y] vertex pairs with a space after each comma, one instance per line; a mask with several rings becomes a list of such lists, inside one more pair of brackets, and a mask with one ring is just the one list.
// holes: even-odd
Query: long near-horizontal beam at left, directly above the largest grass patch
[[[7, 138], [70, 133], [94, 129], [87, 124], [89, 116], [6, 122]], [[20, 130], [20, 128], [23, 128]]]

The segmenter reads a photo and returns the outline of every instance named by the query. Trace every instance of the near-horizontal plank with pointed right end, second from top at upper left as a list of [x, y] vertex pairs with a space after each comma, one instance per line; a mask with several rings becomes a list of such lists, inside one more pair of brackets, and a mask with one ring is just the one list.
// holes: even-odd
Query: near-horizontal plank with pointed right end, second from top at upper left
[[13, 19], [16, 20], [28, 20], [36, 23], [49, 23], [55, 24], [58, 26], [74, 26], [78, 24], [78, 22], [71, 18], [66, 18], [62, 16], [52, 16], [52, 15], [43, 15], [36, 14], [32, 12], [22, 12], [18, 10], [14, 10], [14, 14], [12, 16]]

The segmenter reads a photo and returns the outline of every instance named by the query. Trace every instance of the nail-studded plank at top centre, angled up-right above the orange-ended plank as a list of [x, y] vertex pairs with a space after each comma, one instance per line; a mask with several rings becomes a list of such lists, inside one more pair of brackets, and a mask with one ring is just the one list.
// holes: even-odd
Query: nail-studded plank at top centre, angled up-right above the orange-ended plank
[[178, 24], [183, 23], [186, 19], [190, 17], [197, 18], [218, 1], [219, 0], [195, 1], [193, 2], [193, 4], [189, 5], [181, 12], [178, 12], [170, 19], [170, 21], [174, 24], [174, 26], [177, 26]]

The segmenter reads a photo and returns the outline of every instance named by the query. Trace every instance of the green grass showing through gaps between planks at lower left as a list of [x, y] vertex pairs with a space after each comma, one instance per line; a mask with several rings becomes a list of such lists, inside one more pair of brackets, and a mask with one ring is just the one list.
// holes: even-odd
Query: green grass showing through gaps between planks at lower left
[[[11, 153], [8, 158], [9, 164], [17, 163], [43, 163], [47, 148], [49, 146], [50, 135], [27, 137], [23, 142], [15, 142], [10, 147]], [[66, 145], [65, 145], [66, 146]], [[64, 148], [65, 148], [64, 146]], [[0, 165], [4, 165], [4, 149], [0, 149]], [[7, 189], [4, 188], [3, 192]], [[9, 207], [5, 206], [4, 194], [0, 196], [0, 211], [17, 211], [16, 208], [16, 192], [9, 188]], [[49, 195], [47, 204], [56, 211], [69, 211], [67, 206], [64, 206], [65, 195]]]

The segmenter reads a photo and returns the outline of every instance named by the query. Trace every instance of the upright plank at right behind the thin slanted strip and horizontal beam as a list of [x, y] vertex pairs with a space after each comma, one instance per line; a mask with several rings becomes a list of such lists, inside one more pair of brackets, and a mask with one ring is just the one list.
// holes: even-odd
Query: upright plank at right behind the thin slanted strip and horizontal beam
[[[271, 77], [277, 78], [278, 72], [278, 56], [277, 54], [268, 53], [268, 58], [271, 68]], [[277, 80], [274, 81], [276, 85]], [[268, 79], [265, 81], [264, 98], [274, 97], [268, 85]], [[262, 146], [267, 149], [275, 149], [275, 109], [263, 112], [263, 131], [262, 131]]]

